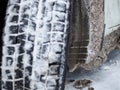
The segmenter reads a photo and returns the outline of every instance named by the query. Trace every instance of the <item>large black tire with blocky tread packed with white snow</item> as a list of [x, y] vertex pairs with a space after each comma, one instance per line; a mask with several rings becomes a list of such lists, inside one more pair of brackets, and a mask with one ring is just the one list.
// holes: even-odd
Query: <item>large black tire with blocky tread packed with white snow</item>
[[1, 90], [64, 90], [70, 0], [9, 0]]

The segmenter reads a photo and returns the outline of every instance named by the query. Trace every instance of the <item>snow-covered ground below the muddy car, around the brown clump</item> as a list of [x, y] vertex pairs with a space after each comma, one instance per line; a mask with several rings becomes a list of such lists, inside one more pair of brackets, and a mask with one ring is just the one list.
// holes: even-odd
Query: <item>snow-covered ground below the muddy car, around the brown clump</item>
[[[67, 75], [67, 79], [92, 80], [92, 87], [95, 90], [120, 90], [120, 51], [110, 53], [108, 61], [91, 71], [78, 69]], [[73, 86], [74, 82], [66, 85], [65, 90], [78, 90]], [[87, 90], [87, 89], [84, 89]]]

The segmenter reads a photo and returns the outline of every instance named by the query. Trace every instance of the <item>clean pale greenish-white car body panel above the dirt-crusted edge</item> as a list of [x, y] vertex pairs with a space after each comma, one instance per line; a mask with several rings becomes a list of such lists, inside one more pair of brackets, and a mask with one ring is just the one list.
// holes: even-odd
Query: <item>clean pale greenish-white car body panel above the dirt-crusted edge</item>
[[120, 0], [105, 0], [105, 35], [120, 27]]

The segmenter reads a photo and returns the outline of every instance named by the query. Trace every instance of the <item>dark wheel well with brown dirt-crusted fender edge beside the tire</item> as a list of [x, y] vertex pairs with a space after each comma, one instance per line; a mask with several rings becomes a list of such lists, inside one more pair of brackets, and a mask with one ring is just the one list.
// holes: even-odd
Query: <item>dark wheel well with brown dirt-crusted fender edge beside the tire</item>
[[112, 32], [106, 32], [104, 3], [104, 0], [72, 0], [68, 49], [70, 72], [78, 67], [91, 70], [104, 63], [113, 49], [119, 48], [119, 23], [109, 28]]

